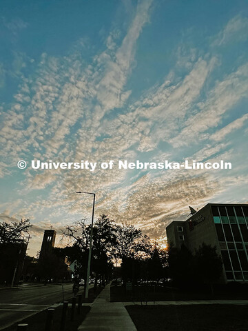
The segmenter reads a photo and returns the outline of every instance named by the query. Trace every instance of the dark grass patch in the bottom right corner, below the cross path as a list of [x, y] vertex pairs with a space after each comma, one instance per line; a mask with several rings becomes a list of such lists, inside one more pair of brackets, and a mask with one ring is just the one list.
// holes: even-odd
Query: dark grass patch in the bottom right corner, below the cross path
[[138, 331], [246, 331], [248, 305], [128, 305]]

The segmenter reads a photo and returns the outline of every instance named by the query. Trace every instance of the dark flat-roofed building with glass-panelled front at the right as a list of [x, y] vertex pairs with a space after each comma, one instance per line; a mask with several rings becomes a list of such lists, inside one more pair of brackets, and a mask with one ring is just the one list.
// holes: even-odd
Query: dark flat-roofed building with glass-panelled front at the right
[[208, 203], [166, 231], [168, 244], [178, 248], [183, 243], [194, 252], [202, 243], [216, 246], [223, 260], [221, 282], [248, 281], [248, 205]]

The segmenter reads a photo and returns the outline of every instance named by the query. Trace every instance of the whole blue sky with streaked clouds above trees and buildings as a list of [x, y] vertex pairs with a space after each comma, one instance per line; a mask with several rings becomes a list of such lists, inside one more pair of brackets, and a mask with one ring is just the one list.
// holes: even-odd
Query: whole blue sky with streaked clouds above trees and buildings
[[[0, 12], [0, 219], [30, 219], [28, 254], [43, 230], [90, 222], [92, 196], [78, 190], [96, 194], [95, 219], [161, 243], [189, 205], [248, 202], [247, 1], [2, 0]], [[186, 159], [232, 168], [116, 166]]]

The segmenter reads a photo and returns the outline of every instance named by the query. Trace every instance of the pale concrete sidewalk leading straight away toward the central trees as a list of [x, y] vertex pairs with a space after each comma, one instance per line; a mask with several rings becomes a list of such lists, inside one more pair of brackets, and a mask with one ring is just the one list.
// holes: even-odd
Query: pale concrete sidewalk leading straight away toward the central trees
[[90, 312], [78, 330], [136, 331], [124, 304], [121, 302], [110, 302], [110, 284], [107, 284], [94, 303], [92, 303]]

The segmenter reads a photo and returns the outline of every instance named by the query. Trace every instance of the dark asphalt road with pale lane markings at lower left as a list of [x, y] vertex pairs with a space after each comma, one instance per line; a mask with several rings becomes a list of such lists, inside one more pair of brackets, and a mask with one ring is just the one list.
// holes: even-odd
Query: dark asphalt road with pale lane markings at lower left
[[[81, 290], [82, 292], [82, 290]], [[72, 283], [0, 290], [0, 330], [73, 296]]]

